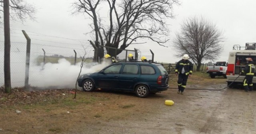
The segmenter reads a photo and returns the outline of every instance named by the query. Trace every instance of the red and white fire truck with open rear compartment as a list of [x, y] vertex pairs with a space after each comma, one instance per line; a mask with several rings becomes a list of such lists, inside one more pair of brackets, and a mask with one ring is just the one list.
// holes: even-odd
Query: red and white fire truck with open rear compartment
[[[236, 87], [242, 84], [245, 74], [240, 74], [242, 69], [246, 65], [246, 58], [252, 58], [256, 63], [256, 43], [246, 43], [244, 47], [240, 45], [234, 45], [233, 50], [229, 52], [228, 56], [228, 68], [226, 72], [228, 86]], [[233, 82], [233, 83], [232, 83]], [[252, 80], [254, 87], [256, 86], [256, 73]], [[231, 84], [231, 85], [230, 85]]]

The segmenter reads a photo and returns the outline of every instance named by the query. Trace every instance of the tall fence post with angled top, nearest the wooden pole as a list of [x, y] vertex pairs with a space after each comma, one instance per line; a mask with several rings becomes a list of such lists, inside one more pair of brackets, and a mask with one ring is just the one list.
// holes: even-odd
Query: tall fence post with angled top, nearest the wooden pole
[[28, 36], [28, 34], [22, 30], [22, 33], [24, 34], [26, 40], [27, 40], [27, 50], [26, 50], [26, 70], [25, 70], [25, 89], [29, 90], [29, 85], [28, 85], [28, 78], [29, 78], [29, 62], [30, 62], [30, 43], [31, 40]]

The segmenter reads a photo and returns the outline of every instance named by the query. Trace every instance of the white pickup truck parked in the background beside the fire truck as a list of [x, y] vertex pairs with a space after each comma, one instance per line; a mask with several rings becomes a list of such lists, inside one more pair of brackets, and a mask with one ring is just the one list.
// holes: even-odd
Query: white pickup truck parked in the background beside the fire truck
[[227, 78], [226, 72], [228, 68], [228, 62], [216, 62], [212, 66], [208, 66], [206, 68], [206, 73], [209, 74], [211, 78], [215, 78], [215, 76], [224, 76], [224, 78]]

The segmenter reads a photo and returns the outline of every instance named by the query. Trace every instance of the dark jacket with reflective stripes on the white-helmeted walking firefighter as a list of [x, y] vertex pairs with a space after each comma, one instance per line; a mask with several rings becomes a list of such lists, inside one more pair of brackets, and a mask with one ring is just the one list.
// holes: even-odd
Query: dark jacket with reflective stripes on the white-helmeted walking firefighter
[[182, 70], [184, 68], [184, 74], [192, 74], [193, 72], [193, 64], [189, 60], [180, 60], [177, 62], [175, 66], [175, 73], [182, 74]]

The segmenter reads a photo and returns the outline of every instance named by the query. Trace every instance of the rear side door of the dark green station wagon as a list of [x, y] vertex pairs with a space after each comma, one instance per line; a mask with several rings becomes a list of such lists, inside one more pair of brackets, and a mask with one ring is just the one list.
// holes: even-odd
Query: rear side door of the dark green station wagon
[[139, 66], [137, 64], [125, 64], [119, 76], [119, 88], [133, 90], [134, 84], [140, 78]]

